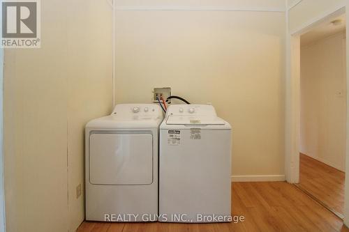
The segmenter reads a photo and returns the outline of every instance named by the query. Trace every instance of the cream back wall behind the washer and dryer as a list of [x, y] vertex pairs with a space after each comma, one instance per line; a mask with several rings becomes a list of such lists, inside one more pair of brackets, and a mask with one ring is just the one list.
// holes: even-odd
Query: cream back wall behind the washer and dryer
[[232, 175], [282, 178], [285, 13], [117, 10], [116, 31], [117, 103], [158, 86], [211, 102], [232, 124]]

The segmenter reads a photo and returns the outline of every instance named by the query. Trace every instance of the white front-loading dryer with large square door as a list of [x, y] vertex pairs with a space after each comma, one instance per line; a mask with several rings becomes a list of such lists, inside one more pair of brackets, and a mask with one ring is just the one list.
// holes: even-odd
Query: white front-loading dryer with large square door
[[87, 123], [86, 219], [157, 220], [158, 105], [117, 105], [110, 116]]

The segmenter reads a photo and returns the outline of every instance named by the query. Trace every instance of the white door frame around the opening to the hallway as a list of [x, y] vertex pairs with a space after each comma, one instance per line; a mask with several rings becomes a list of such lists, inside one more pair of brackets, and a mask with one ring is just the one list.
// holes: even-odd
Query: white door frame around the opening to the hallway
[[[299, 128], [300, 128], [300, 36], [333, 17], [346, 13], [346, 5], [339, 6], [316, 17], [301, 28], [290, 31], [286, 11], [286, 75], [285, 75], [285, 179], [299, 183]], [[349, 15], [346, 14], [348, 32]], [[349, 102], [349, 42], [346, 39], [346, 100]], [[347, 103], [348, 105], [348, 103]], [[344, 222], [349, 225], [349, 107], [346, 117], [346, 193]], [[348, 205], [348, 206], [347, 206]]]

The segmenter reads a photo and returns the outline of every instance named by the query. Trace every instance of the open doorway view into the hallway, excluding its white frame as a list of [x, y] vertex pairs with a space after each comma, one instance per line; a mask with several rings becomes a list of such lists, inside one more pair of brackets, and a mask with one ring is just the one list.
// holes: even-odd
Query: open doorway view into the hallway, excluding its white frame
[[346, 15], [300, 36], [299, 184], [343, 219]]

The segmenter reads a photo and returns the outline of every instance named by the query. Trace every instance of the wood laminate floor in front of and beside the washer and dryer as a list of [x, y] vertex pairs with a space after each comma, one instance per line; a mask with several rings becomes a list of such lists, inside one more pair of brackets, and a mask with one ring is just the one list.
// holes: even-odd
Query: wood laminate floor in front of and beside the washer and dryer
[[212, 224], [83, 222], [77, 232], [349, 231], [339, 217], [285, 182], [234, 183], [232, 214], [244, 222]]

